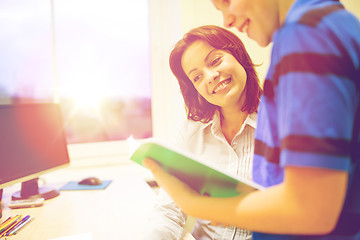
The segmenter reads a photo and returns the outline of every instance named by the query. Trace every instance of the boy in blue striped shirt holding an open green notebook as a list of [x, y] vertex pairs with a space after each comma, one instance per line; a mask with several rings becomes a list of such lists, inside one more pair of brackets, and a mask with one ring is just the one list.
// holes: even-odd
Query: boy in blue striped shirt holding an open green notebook
[[337, 0], [212, 0], [224, 25], [273, 42], [255, 135], [264, 191], [200, 196], [146, 160], [189, 215], [253, 239], [360, 239], [360, 24]]

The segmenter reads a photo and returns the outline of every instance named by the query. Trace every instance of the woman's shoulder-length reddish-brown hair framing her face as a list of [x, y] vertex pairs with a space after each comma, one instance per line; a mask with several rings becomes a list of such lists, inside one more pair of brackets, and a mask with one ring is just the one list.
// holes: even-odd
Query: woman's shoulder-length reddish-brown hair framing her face
[[215, 49], [224, 50], [235, 57], [246, 71], [247, 81], [244, 91], [246, 100], [241, 111], [253, 113], [257, 111], [262, 89], [256, 75], [254, 64], [247, 53], [244, 44], [234, 33], [224, 28], [208, 25], [190, 30], [178, 41], [169, 58], [170, 68], [177, 78], [181, 93], [184, 97], [187, 118], [194, 121], [209, 122], [219, 106], [209, 103], [203, 98], [191, 80], [185, 74], [181, 58], [186, 49], [195, 41], [202, 40]]

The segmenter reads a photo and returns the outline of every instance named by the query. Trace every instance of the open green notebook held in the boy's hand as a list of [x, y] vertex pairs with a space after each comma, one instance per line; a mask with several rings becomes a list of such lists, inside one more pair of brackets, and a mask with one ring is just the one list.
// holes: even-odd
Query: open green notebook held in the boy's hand
[[248, 179], [225, 173], [211, 163], [197, 159], [184, 150], [161, 143], [144, 141], [130, 159], [142, 165], [145, 157], [156, 160], [168, 173], [185, 182], [192, 189], [212, 197], [232, 197], [261, 190], [263, 187]]

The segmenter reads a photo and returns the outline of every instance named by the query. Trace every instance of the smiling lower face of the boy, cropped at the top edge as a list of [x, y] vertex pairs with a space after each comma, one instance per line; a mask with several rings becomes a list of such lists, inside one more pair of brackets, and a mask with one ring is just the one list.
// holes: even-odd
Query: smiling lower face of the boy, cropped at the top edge
[[225, 27], [235, 27], [263, 47], [271, 42], [282, 21], [274, 0], [211, 1], [222, 12]]

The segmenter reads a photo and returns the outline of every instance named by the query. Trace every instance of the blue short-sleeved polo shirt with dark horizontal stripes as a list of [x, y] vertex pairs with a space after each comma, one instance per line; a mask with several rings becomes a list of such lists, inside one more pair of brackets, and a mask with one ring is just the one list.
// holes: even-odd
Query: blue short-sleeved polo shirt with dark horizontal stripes
[[253, 180], [264, 186], [280, 183], [285, 166], [350, 172], [359, 104], [359, 20], [336, 0], [296, 0], [273, 43], [255, 133]]

